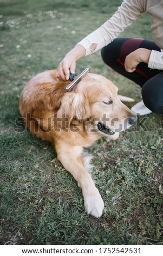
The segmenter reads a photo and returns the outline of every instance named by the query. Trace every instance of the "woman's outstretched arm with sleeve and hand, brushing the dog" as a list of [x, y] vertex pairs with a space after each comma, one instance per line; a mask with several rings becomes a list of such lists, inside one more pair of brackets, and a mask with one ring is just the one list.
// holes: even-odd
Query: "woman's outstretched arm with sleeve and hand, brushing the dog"
[[[147, 1], [147, 0], [144, 0]], [[101, 27], [87, 35], [66, 54], [57, 68], [57, 77], [69, 79], [69, 70], [75, 72], [76, 60], [100, 50], [116, 38], [126, 27], [138, 19], [144, 9], [140, 0], [123, 0], [118, 11]]]

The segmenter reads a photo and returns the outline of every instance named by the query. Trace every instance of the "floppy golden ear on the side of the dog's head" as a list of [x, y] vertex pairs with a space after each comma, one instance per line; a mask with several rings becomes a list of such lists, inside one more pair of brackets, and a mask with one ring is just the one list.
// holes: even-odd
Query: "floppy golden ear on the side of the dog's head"
[[69, 92], [63, 96], [61, 107], [58, 109], [54, 121], [55, 125], [57, 122], [58, 129], [66, 130], [74, 118], [83, 120], [89, 116], [90, 108], [86, 96]]

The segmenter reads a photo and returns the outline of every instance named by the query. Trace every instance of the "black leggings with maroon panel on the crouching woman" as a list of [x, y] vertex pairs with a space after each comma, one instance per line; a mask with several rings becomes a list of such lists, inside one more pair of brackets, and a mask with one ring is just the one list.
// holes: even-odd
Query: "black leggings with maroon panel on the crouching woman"
[[138, 48], [160, 51], [153, 41], [140, 38], [117, 38], [102, 48], [103, 61], [119, 74], [129, 78], [142, 88], [142, 99], [152, 112], [163, 114], [163, 71], [149, 69], [146, 63], [139, 63], [132, 73], [125, 70], [126, 56]]

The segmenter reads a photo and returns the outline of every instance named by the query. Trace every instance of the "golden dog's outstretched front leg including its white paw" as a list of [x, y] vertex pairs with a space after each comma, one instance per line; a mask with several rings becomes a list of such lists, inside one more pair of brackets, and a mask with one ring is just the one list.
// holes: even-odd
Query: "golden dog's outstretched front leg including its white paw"
[[57, 142], [55, 148], [58, 160], [74, 176], [78, 186], [82, 189], [87, 213], [96, 218], [100, 217], [104, 208], [103, 200], [90, 174], [83, 166], [82, 147]]

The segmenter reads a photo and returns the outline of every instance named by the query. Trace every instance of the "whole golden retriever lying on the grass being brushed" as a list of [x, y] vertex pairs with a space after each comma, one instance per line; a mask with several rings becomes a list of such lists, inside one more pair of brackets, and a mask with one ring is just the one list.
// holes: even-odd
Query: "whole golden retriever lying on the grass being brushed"
[[104, 204], [83, 148], [102, 137], [117, 139], [136, 116], [120, 101], [118, 88], [101, 75], [86, 74], [71, 92], [66, 90], [69, 83], [58, 80], [56, 70], [36, 75], [25, 85], [19, 109], [30, 131], [53, 143], [57, 159], [82, 189], [87, 213], [100, 217]]

